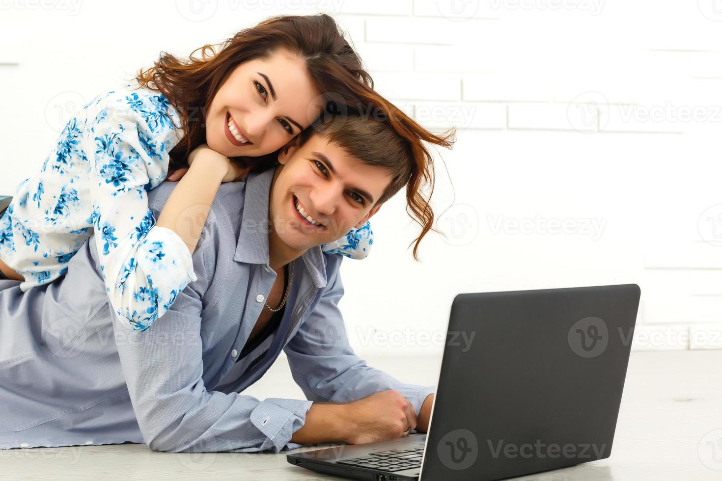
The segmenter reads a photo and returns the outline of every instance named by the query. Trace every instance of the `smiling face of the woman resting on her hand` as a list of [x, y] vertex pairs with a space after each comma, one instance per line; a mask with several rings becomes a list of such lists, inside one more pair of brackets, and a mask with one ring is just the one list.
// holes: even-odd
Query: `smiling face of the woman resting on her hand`
[[206, 115], [206, 144], [227, 157], [277, 151], [323, 108], [305, 61], [286, 50], [241, 63], [223, 82]]

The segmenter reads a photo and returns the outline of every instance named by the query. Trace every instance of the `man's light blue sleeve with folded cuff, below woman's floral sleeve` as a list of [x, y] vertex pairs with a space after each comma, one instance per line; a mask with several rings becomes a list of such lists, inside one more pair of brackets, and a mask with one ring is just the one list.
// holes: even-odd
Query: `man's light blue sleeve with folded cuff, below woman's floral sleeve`
[[204, 250], [199, 244], [193, 252], [199, 281], [189, 283], [178, 294], [152, 330], [141, 334], [113, 323], [144, 441], [154, 451], [170, 452], [279, 452], [298, 447], [290, 438], [305, 423], [312, 402], [259, 401], [235, 392], [209, 392], [204, 386]]

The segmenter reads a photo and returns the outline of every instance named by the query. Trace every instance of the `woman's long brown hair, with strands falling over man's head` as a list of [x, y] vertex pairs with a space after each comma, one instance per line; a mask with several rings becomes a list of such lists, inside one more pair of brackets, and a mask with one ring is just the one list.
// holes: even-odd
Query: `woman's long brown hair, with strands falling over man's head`
[[[288, 50], [305, 61], [311, 79], [326, 97], [327, 110], [380, 110], [399, 136], [408, 141], [416, 165], [403, 182], [406, 183], [406, 211], [422, 226], [414, 246], [414, 258], [418, 259], [419, 242], [432, 229], [434, 220], [429, 205], [433, 163], [421, 141], [450, 147], [453, 131], [436, 136], [380, 97], [373, 90], [373, 79], [363, 68], [361, 59], [327, 14], [270, 17], [255, 27], [240, 30], [219, 45], [204, 45], [193, 50], [187, 61], [162, 52], [154, 66], [141, 69], [136, 81], [165, 95], [181, 115], [184, 135], [170, 151], [169, 169], [188, 167], [188, 154], [206, 142], [205, 112], [235, 67], [255, 58], [269, 58], [279, 49]], [[194, 54], [199, 50], [201, 56], [197, 58]], [[272, 167], [277, 158], [278, 151], [232, 160], [256, 171]], [[427, 186], [431, 187], [431, 193], [425, 197], [423, 190]]]

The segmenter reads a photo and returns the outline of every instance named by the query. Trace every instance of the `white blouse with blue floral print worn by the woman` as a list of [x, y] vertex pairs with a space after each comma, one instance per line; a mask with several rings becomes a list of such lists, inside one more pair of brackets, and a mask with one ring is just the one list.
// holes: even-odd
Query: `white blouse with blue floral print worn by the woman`
[[[25, 179], [0, 217], [0, 259], [25, 278], [22, 291], [54, 281], [93, 230], [110, 304], [124, 324], [144, 331], [196, 281], [188, 247], [155, 226], [147, 191], [168, 174], [183, 136], [168, 99], [128, 84], [84, 105], [65, 125], [35, 177]], [[370, 224], [325, 252], [362, 259]]]

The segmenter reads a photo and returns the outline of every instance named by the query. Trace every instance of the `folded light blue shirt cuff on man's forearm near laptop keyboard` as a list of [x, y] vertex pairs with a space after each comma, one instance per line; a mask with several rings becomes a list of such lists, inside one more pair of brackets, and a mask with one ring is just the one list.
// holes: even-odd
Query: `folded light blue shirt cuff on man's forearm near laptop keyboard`
[[303, 446], [291, 443], [293, 433], [306, 422], [306, 412], [313, 405], [308, 400], [286, 400], [270, 397], [258, 403], [251, 412], [251, 423], [266, 436], [262, 449], [295, 449]]

